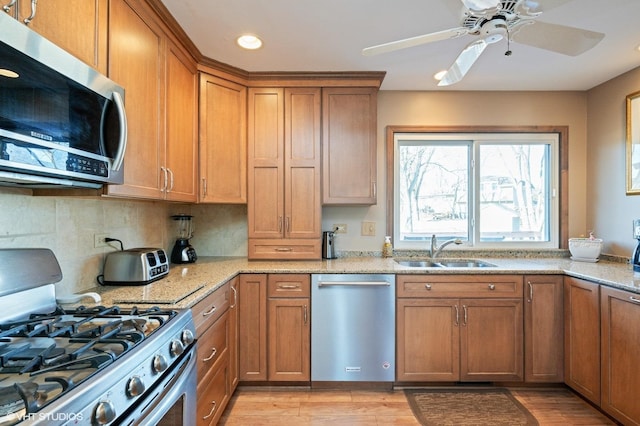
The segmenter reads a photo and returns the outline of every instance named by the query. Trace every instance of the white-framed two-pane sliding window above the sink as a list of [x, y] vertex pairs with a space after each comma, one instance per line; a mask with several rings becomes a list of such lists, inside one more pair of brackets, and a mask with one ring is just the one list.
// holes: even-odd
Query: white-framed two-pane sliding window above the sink
[[561, 133], [392, 135], [396, 248], [560, 246]]

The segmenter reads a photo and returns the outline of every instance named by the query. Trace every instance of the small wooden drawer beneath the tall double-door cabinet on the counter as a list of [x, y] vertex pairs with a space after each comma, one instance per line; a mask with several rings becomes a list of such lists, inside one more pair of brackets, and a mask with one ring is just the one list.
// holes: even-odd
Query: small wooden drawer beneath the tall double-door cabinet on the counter
[[318, 239], [249, 239], [249, 259], [320, 259]]

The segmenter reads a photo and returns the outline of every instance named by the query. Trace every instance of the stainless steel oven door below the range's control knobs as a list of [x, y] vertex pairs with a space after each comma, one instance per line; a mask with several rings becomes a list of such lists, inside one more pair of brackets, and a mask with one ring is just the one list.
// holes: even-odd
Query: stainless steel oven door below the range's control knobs
[[114, 424], [195, 426], [196, 385], [196, 351], [193, 345], [178, 366], [137, 404], [137, 408]]

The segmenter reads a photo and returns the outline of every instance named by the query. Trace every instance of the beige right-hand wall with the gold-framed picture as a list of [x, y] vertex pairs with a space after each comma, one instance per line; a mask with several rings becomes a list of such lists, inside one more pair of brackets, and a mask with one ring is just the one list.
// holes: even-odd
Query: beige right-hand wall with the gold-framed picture
[[587, 97], [587, 221], [605, 240], [605, 253], [630, 257], [640, 219], [640, 195], [626, 195], [625, 138], [628, 94], [640, 90], [640, 68], [589, 90]]

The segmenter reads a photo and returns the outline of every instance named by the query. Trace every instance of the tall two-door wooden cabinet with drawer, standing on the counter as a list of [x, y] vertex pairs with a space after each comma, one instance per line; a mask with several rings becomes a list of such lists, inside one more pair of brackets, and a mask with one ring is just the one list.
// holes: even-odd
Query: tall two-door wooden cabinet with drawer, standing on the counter
[[319, 259], [320, 89], [250, 88], [250, 259]]

